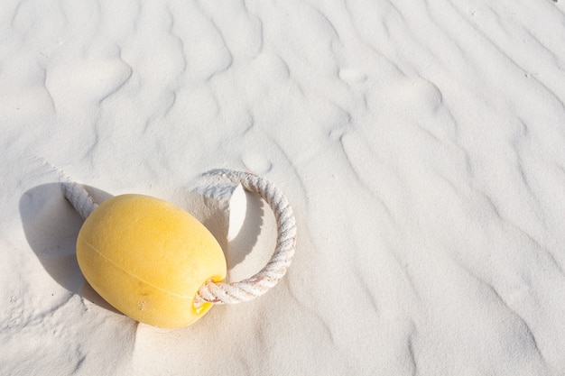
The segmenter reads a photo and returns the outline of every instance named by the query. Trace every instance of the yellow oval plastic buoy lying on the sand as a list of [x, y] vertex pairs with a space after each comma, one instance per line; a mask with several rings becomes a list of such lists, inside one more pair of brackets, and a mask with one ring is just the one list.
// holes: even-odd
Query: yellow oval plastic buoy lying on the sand
[[112, 197], [88, 216], [77, 241], [79, 267], [102, 298], [125, 315], [166, 328], [188, 326], [211, 304], [194, 298], [226, 278], [216, 238], [178, 206], [143, 195]]

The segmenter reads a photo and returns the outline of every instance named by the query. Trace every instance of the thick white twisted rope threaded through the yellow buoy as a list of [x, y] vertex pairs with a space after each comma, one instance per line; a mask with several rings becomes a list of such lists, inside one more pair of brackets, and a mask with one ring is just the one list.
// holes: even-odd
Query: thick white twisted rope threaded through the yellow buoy
[[[267, 179], [248, 173], [232, 170], [217, 170], [209, 174], [228, 179], [248, 191], [262, 197], [271, 209], [277, 225], [276, 247], [264, 268], [254, 276], [239, 282], [212, 282], [208, 280], [199, 289], [194, 304], [209, 302], [214, 304], [235, 304], [263, 295], [282, 279], [292, 262], [296, 246], [296, 220], [288, 199], [279, 188]], [[64, 196], [75, 207], [79, 215], [87, 218], [97, 207], [88, 191], [65, 175], [67, 182], [61, 183]]]

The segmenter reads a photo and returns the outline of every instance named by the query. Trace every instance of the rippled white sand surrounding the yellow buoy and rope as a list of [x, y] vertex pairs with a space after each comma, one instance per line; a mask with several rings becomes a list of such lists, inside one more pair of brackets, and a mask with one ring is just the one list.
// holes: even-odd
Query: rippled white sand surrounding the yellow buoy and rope
[[[565, 374], [564, 101], [563, 0], [3, 0], [0, 373]], [[83, 280], [42, 159], [224, 237], [200, 176], [255, 171], [295, 208], [291, 270], [139, 325]], [[246, 206], [234, 278], [273, 250]]]

